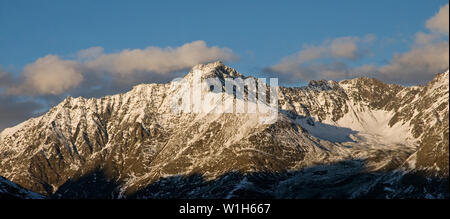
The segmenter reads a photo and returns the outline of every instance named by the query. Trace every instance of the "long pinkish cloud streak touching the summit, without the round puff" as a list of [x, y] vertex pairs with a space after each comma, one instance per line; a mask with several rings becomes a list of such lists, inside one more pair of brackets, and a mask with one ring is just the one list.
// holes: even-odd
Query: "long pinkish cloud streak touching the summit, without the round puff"
[[148, 47], [143, 50], [126, 49], [119, 53], [103, 54], [86, 63], [86, 67], [93, 71], [104, 71], [120, 76], [136, 72], [166, 74], [188, 69], [200, 63], [230, 61], [236, 58], [237, 56], [228, 48], [208, 47], [204, 41], [195, 41], [178, 48]]

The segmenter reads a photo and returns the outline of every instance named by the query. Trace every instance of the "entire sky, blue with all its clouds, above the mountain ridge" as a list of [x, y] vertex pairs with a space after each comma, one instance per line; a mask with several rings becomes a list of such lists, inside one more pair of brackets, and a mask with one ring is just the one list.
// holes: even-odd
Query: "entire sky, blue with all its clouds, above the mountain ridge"
[[[0, 130], [222, 60], [280, 85], [448, 69], [448, 0], [0, 0]], [[168, 49], [168, 47], [170, 47]]]

